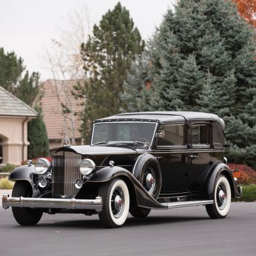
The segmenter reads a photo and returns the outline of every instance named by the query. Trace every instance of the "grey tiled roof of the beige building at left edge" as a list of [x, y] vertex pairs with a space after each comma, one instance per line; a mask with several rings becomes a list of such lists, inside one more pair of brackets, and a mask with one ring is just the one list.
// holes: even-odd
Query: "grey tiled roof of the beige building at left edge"
[[0, 86], [0, 116], [36, 117], [37, 112]]

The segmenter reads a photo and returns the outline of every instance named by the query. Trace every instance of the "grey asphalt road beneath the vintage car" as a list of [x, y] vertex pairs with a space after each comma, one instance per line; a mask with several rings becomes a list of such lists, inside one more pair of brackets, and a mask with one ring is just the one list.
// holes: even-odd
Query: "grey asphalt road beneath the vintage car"
[[125, 226], [102, 228], [98, 216], [44, 214], [36, 226], [19, 226], [0, 209], [0, 255], [256, 255], [256, 203], [232, 203], [226, 219], [205, 208], [153, 210], [129, 215]]

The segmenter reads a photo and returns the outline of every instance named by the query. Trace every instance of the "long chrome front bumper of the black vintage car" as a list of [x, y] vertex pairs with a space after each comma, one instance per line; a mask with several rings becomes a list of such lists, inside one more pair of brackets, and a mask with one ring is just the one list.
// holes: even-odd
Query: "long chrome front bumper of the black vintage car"
[[102, 198], [97, 196], [95, 200], [83, 199], [58, 199], [58, 198], [11, 198], [9, 194], [4, 194], [2, 199], [4, 209], [12, 207], [30, 208], [58, 208], [58, 209], [87, 209], [102, 211]]

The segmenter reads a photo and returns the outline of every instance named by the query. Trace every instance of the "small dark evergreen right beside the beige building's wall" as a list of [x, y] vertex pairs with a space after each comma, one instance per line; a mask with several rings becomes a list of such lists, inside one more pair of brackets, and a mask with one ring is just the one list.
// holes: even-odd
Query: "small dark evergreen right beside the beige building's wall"
[[43, 122], [42, 110], [35, 106], [38, 117], [28, 123], [28, 158], [39, 158], [49, 154], [49, 142], [45, 123]]

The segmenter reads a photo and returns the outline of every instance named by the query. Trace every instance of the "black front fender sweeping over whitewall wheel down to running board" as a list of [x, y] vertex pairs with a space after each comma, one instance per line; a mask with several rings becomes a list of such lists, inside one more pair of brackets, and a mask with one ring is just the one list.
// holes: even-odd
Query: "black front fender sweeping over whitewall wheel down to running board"
[[142, 184], [129, 172], [122, 167], [104, 167], [94, 175], [92, 175], [87, 182], [107, 182], [116, 177], [125, 179], [127, 186], [135, 190], [137, 205], [139, 207], [145, 207], [150, 209], [167, 209], [166, 206], [158, 203], [148, 192], [143, 188]]

